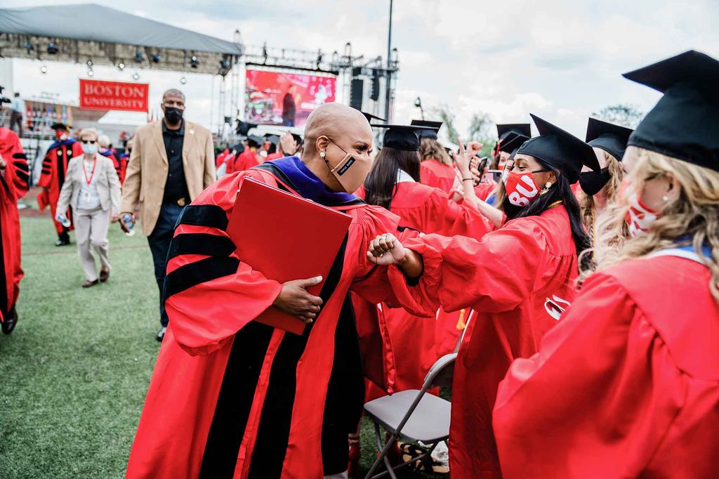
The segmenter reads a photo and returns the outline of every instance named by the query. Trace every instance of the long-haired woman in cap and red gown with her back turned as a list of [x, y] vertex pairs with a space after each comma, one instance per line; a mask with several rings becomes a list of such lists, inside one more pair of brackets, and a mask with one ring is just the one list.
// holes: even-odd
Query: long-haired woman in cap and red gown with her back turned
[[[390, 127], [384, 136], [383, 149], [359, 195], [367, 204], [382, 206], [398, 215], [400, 229], [411, 228], [421, 233], [446, 236], [462, 234], [475, 239], [490, 232], [493, 227], [472, 206], [473, 201], [457, 204], [439, 188], [419, 183], [418, 148], [419, 140], [411, 127]], [[474, 192], [472, 178], [462, 183], [470, 194]], [[362, 300], [355, 296], [354, 301]], [[441, 357], [436, 345], [441, 347], [459, 339], [462, 331], [454, 327], [457, 321], [452, 328], [446, 328], [444, 322], [418, 318], [401, 308], [381, 305], [380, 311], [396, 358], [393, 391], [421, 388], [429, 368]], [[383, 394], [379, 388], [370, 387], [366, 401]]]

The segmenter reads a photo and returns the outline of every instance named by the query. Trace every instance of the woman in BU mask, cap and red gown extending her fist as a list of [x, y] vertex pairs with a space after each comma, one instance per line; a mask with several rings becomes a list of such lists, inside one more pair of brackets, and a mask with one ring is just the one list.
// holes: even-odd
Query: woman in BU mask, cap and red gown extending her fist
[[[500, 189], [503, 227], [479, 241], [428, 234], [406, 247], [385, 234], [368, 253], [378, 264], [398, 265], [389, 277], [408, 311], [426, 314], [438, 305], [476, 311], [454, 368], [453, 478], [500, 476], [491, 426], [497, 386], [510, 362], [536, 352], [539, 339], [557, 324], [574, 297], [577, 255], [589, 245], [569, 185], [582, 165], [599, 169], [594, 152], [564, 130], [533, 119], [540, 136], [518, 150]], [[468, 173], [469, 162], [460, 163]]]

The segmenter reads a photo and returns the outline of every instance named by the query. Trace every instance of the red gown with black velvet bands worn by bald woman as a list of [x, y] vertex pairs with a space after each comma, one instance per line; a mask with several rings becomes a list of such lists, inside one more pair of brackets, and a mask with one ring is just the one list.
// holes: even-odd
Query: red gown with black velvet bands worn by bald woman
[[[390, 299], [387, 269], [368, 263], [366, 252], [377, 234], [396, 229], [397, 218], [361, 200], [337, 206], [352, 224], [319, 317], [303, 336], [252, 321], [281, 285], [243, 263], [224, 229], [244, 175], [276, 186], [271, 166], [221, 178], [180, 216], [165, 280], [170, 326], [129, 479], [321, 478], [323, 462], [333, 459], [323, 456], [328, 446], [345, 454], [337, 472], [347, 467], [347, 433], [362, 412], [361, 371], [359, 389], [344, 380], [355, 357], [342, 348], [357, 350], [359, 360], [347, 294]], [[348, 408], [356, 414], [344, 424]]]

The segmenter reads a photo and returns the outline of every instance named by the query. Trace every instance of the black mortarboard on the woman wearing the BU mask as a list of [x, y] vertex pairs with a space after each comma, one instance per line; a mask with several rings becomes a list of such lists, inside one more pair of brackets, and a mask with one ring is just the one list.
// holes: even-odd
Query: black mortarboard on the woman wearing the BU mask
[[599, 162], [590, 145], [559, 127], [530, 114], [539, 137], [533, 137], [519, 147], [517, 154], [530, 155], [559, 170], [569, 183], [580, 179], [582, 166], [599, 171]]

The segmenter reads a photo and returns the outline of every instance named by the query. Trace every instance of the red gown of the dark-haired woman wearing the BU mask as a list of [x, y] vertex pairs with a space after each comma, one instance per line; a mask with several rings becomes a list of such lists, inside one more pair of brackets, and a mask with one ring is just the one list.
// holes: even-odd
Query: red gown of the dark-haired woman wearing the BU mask
[[471, 307], [475, 319], [459, 350], [452, 386], [452, 478], [499, 477], [492, 431], [497, 386], [510, 363], [533, 355], [574, 298], [577, 255], [564, 206], [514, 219], [480, 241], [429, 234], [406, 247], [423, 256], [424, 273], [408, 286], [395, 267], [395, 294], [412, 312]]

